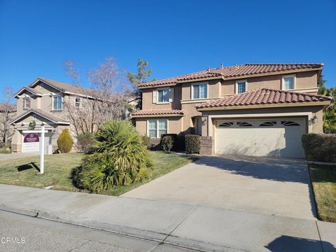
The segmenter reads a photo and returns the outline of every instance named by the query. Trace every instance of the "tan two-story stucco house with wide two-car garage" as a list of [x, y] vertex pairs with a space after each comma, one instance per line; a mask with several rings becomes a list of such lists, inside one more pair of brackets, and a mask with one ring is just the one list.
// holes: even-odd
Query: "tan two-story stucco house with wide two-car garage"
[[137, 130], [202, 135], [202, 155], [303, 158], [301, 136], [323, 132], [330, 97], [317, 95], [323, 64], [244, 64], [139, 85]]

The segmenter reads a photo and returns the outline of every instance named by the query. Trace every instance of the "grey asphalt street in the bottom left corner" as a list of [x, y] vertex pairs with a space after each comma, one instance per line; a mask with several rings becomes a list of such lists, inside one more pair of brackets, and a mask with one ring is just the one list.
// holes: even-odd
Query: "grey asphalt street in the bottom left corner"
[[57, 221], [0, 211], [0, 251], [167, 251], [190, 250]]

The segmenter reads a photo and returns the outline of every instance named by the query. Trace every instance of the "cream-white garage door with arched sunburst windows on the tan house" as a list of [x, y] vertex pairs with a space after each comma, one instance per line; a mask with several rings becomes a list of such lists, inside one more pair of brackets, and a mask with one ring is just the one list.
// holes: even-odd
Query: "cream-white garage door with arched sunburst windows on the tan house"
[[304, 158], [304, 119], [218, 120], [215, 153]]

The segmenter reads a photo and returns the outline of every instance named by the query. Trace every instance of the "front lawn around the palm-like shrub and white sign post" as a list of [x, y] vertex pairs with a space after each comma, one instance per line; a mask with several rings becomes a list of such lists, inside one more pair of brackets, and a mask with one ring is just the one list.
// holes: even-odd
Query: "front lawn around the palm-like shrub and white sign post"
[[[27, 157], [15, 160], [1, 161], [0, 163], [0, 183], [44, 188], [54, 186], [55, 190], [80, 191], [73, 186], [71, 170], [78, 167], [83, 154], [67, 153], [57, 155], [45, 155], [44, 174], [38, 174], [40, 165], [39, 157]], [[193, 158], [186, 158], [173, 153], [162, 151], [151, 151], [155, 169], [151, 179], [143, 182], [136, 182], [130, 186], [120, 186], [113, 190], [103, 191], [105, 195], [121, 195], [133, 188], [137, 188], [144, 183], [148, 183], [162, 175], [174, 171], [183, 165], [193, 162]]]

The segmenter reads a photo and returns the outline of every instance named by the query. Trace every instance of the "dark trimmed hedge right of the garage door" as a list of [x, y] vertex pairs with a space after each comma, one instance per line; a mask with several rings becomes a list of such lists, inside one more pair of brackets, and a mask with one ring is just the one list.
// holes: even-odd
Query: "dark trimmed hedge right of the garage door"
[[304, 134], [302, 147], [307, 160], [336, 162], [336, 134]]

